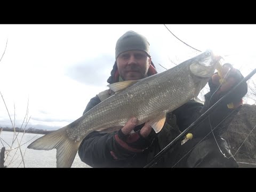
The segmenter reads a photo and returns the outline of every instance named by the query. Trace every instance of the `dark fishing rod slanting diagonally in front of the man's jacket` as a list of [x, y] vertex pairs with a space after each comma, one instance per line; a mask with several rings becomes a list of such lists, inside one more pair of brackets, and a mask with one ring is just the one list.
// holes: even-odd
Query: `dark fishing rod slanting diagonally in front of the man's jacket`
[[220, 105], [220, 103], [223, 102], [231, 93], [234, 92], [234, 90], [237, 89], [238, 86], [240, 86], [242, 83], [246, 82], [248, 79], [250, 79], [254, 74], [256, 73], [256, 68], [246, 77], [244, 77], [236, 86], [234, 86], [227, 94], [225, 94], [222, 98], [220, 98], [217, 102], [212, 105], [209, 109], [205, 111], [204, 114], [202, 114], [200, 117], [196, 119], [191, 125], [187, 127], [183, 132], [181, 132], [175, 139], [173, 139], [165, 148], [163, 148], [147, 165], [144, 166], [144, 168], [153, 167], [162, 157], [171, 149], [171, 147], [177, 143], [178, 141], [181, 141], [184, 139], [185, 135], [191, 131], [191, 129], [198, 126], [200, 123], [204, 121], [204, 119], [209, 115], [217, 106]]

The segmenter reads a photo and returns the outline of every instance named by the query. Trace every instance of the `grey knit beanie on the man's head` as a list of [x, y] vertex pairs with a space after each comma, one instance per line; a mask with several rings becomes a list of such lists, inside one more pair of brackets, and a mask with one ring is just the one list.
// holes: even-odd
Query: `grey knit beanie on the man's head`
[[149, 54], [149, 43], [146, 37], [134, 32], [127, 31], [122, 35], [116, 42], [116, 59], [122, 52], [130, 50], [140, 50], [145, 51], [150, 57]]

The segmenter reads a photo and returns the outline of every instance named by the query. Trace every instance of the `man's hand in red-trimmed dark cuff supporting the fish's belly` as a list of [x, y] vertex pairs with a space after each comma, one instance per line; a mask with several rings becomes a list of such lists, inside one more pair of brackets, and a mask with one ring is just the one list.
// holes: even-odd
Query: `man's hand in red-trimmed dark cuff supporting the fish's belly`
[[[114, 143], [110, 154], [114, 159], [126, 159], [141, 153], [153, 142], [153, 137], [149, 137], [152, 127], [145, 125], [136, 132], [132, 132], [137, 125], [137, 118], [133, 117], [123, 126], [123, 128], [114, 134]], [[154, 134], [154, 133], [153, 133]]]

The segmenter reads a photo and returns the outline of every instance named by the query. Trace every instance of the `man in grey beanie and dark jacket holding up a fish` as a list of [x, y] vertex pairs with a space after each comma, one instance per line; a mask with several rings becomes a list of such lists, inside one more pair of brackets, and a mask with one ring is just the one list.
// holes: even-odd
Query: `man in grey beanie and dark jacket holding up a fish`
[[[134, 31], [127, 31], [118, 39], [115, 56], [116, 61], [107, 80], [110, 84], [142, 79], [157, 73], [146, 37]], [[230, 68], [230, 65], [224, 65], [223, 74]], [[218, 89], [220, 77], [214, 74], [209, 81], [210, 92], [205, 95], [205, 104], [192, 99], [167, 114], [164, 127], [157, 134], [148, 123], [135, 126], [135, 117], [121, 130], [112, 133], [94, 131], [79, 146], [79, 157], [92, 167], [143, 167], [242, 78], [239, 70], [231, 68], [226, 83]], [[225, 105], [214, 110], [209, 118], [191, 132], [193, 139], [183, 145], [176, 143], [156, 167], [238, 167], [220, 135], [237, 113], [246, 92], [247, 84], [244, 83], [227, 98]], [[110, 90], [99, 93], [90, 100], [84, 113], [113, 94]], [[231, 102], [233, 106], [230, 109], [227, 104]], [[216, 126], [217, 129], [211, 132]]]

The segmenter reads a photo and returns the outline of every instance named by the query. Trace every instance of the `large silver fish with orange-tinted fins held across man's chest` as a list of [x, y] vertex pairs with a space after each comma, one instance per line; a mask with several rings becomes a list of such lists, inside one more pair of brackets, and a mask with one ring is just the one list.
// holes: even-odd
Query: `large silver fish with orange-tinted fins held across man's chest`
[[162, 73], [138, 81], [110, 84], [114, 95], [69, 125], [38, 138], [28, 148], [55, 148], [57, 167], [71, 167], [79, 145], [92, 131], [115, 131], [131, 117], [137, 117], [138, 125], [149, 121], [158, 133], [165, 123], [166, 113], [197, 97], [219, 60], [219, 56], [207, 50]]

